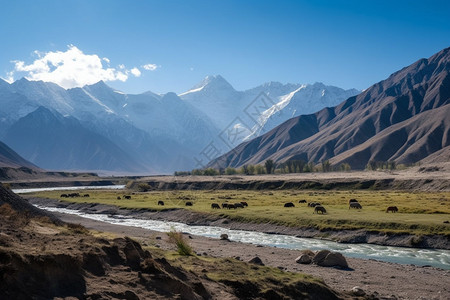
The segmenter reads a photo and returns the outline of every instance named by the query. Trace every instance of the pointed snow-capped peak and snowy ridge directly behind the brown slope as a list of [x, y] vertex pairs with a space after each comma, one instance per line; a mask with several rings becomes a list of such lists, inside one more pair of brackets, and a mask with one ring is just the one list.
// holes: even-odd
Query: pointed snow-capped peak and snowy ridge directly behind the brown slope
[[216, 75], [207, 76], [178, 96], [210, 117], [220, 129], [215, 147], [228, 151], [292, 117], [335, 106], [358, 93], [356, 89], [344, 90], [322, 83], [279, 82], [236, 91], [222, 76]]

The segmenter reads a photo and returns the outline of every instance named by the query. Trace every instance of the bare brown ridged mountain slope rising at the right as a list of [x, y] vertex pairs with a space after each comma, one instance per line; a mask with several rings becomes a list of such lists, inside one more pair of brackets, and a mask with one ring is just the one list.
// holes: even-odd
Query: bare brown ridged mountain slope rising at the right
[[[449, 145], [445, 130], [435, 130], [433, 139], [413, 139], [415, 133], [403, 136], [409, 144], [400, 143], [398, 131], [392, 130], [389, 137], [375, 138], [387, 128], [438, 109], [450, 103], [450, 48], [446, 48], [429, 59], [392, 74], [358, 96], [351, 97], [334, 108], [326, 108], [315, 114], [299, 116], [288, 120], [272, 131], [245, 143], [212, 161], [213, 167], [237, 167], [244, 164], [259, 164], [266, 159], [283, 162], [290, 159], [320, 162], [343, 155], [350, 149], [366, 144], [364, 155], [360, 151], [348, 152], [345, 158], [335, 163], [350, 162], [355, 169], [363, 168], [373, 157], [412, 163]], [[444, 113], [440, 118], [448, 118]], [[436, 116], [433, 115], [433, 118]], [[420, 127], [425, 117], [415, 120]], [[424, 128], [431, 128], [425, 126]], [[425, 133], [419, 134], [424, 136]], [[385, 146], [377, 145], [381, 141]], [[417, 142], [417, 145], [413, 144]], [[424, 144], [424, 143], [429, 144]], [[375, 153], [371, 153], [371, 151]], [[352, 154], [353, 153], [353, 154]]]

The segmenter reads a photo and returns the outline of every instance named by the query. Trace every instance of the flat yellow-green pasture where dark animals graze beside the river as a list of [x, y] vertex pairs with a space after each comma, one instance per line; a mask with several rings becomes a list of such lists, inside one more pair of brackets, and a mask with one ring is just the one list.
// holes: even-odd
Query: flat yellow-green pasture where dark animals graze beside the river
[[[62, 192], [41, 192], [32, 197], [59, 199]], [[269, 223], [318, 229], [366, 229], [392, 233], [450, 235], [450, 192], [401, 191], [304, 191], [304, 190], [200, 190], [200, 191], [85, 191], [89, 198], [62, 198], [79, 203], [102, 203], [127, 209], [163, 210], [183, 208], [214, 214], [231, 220]], [[123, 199], [124, 194], [131, 199]], [[121, 197], [121, 199], [117, 199]], [[348, 208], [349, 199], [357, 199], [362, 210]], [[313, 209], [299, 200], [320, 202], [327, 214], [313, 214]], [[158, 206], [159, 200], [164, 206]], [[187, 201], [193, 206], [185, 206]], [[244, 209], [212, 209], [211, 203], [246, 201]], [[294, 208], [283, 207], [293, 202]], [[398, 213], [386, 213], [388, 206], [397, 206]]]

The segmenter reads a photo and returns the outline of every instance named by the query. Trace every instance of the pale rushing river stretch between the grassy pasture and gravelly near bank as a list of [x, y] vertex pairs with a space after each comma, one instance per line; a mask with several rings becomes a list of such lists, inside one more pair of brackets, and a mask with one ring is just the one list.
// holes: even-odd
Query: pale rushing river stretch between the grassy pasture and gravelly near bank
[[450, 250], [379, 246], [373, 244], [343, 244], [321, 239], [298, 238], [295, 236], [267, 234], [256, 231], [232, 230], [215, 226], [192, 226], [178, 222], [144, 220], [121, 215], [89, 214], [79, 210], [66, 208], [37, 207], [48, 211], [74, 214], [110, 224], [134, 226], [160, 232], [168, 232], [175, 229], [177, 231], [192, 235], [210, 238], [219, 238], [222, 233], [226, 233], [228, 234], [230, 240], [242, 243], [298, 250], [328, 249], [331, 251], [339, 251], [348, 257], [375, 259], [379, 261], [413, 264], [417, 266], [430, 265], [433, 267], [450, 270]]

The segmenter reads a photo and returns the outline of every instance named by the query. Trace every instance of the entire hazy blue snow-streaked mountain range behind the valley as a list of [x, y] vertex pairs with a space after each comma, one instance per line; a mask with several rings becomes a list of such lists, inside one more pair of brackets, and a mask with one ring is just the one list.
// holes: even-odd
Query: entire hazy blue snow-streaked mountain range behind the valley
[[[220, 75], [179, 95], [125, 94], [102, 81], [64, 89], [0, 79], [0, 140], [44, 169], [172, 173], [202, 167], [292, 116], [357, 93], [276, 82], [236, 91]], [[215, 151], [205, 151], [212, 144]]]

